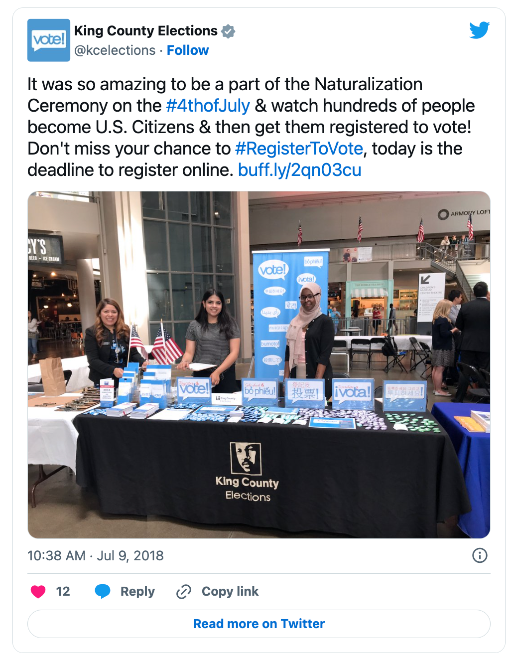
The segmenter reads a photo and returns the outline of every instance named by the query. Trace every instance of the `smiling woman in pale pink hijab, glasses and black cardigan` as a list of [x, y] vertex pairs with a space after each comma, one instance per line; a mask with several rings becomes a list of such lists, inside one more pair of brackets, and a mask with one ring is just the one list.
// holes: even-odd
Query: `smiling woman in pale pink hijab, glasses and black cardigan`
[[309, 284], [300, 290], [300, 312], [289, 323], [284, 378], [324, 378], [325, 398], [332, 396], [330, 353], [334, 324], [320, 309], [321, 288]]

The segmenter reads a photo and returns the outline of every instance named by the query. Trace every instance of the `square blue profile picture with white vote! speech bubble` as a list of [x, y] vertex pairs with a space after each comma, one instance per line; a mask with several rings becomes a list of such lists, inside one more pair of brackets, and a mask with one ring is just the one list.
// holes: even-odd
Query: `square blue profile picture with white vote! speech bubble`
[[69, 62], [69, 19], [29, 19], [27, 59], [29, 62]]

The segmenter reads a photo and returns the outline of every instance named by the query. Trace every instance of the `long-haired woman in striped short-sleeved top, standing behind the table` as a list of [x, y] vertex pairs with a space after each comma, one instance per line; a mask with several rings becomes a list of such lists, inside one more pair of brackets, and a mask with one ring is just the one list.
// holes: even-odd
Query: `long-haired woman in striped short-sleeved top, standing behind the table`
[[241, 332], [227, 311], [223, 293], [211, 288], [204, 293], [200, 310], [186, 332], [186, 352], [178, 369], [190, 362], [213, 365], [194, 371], [193, 376], [211, 379], [212, 391], [235, 392], [235, 361], [239, 355]]

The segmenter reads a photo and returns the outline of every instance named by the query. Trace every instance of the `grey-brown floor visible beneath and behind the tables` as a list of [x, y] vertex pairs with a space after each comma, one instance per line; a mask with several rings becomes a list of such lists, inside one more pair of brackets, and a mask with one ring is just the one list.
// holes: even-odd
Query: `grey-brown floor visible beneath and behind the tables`
[[[82, 354], [78, 345], [61, 345], [54, 342], [42, 342], [44, 355], [40, 357], [76, 357]], [[405, 365], [408, 367], [408, 361]], [[357, 369], [357, 366], [361, 366]], [[375, 378], [375, 386], [387, 376], [391, 380], [399, 378], [419, 380], [416, 373], [402, 373], [400, 369], [393, 369], [389, 374], [383, 372], [385, 358], [380, 355], [373, 357], [373, 370], [368, 371], [365, 365], [357, 365], [351, 371], [352, 378]], [[249, 365], [237, 365], [237, 377], [247, 376]], [[334, 359], [334, 371], [346, 371], [346, 364], [342, 359]], [[432, 408], [436, 398], [432, 394], [431, 382], [428, 383], [428, 410]], [[454, 391], [454, 390], [453, 390]], [[48, 472], [52, 467], [45, 467]], [[37, 479], [38, 469], [29, 466], [29, 487]], [[273, 529], [251, 528], [241, 525], [206, 526], [189, 523], [169, 517], [120, 517], [102, 514], [97, 505], [96, 496], [88, 493], [76, 485], [75, 476], [64, 469], [57, 473], [36, 489], [37, 507], [32, 509], [29, 502], [29, 533], [32, 537], [46, 538], [328, 538], [348, 537], [346, 535], [332, 535], [330, 533], [286, 533]], [[465, 538], [466, 535], [458, 529], [456, 519], [450, 519], [438, 525], [438, 537]]]

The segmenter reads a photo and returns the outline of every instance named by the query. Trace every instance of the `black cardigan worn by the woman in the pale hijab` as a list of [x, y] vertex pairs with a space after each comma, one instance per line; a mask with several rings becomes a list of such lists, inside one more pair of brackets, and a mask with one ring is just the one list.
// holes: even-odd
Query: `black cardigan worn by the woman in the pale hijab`
[[[330, 353], [334, 347], [334, 323], [329, 316], [322, 315], [308, 324], [305, 333], [305, 361], [307, 378], [316, 378], [318, 365], [326, 367], [323, 378], [325, 380], [325, 398], [332, 396], [332, 365]], [[289, 361], [289, 346], [286, 347], [285, 361]], [[292, 368], [291, 378], [296, 378], [296, 367]]]

